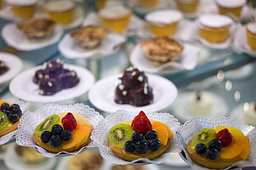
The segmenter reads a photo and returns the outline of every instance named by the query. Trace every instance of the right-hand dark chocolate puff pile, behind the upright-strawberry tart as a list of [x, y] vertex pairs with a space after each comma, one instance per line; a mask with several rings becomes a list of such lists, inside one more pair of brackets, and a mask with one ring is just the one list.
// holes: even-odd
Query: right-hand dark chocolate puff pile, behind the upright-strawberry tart
[[144, 106], [152, 103], [154, 95], [147, 83], [147, 76], [137, 68], [129, 67], [120, 78], [122, 83], [116, 87], [115, 102]]

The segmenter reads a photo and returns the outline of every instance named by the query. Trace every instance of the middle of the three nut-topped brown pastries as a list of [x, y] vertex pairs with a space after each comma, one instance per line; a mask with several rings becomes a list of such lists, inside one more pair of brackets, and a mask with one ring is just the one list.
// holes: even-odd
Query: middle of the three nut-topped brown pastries
[[102, 44], [109, 30], [102, 26], [89, 25], [84, 28], [77, 28], [69, 32], [73, 41], [80, 47], [93, 49]]

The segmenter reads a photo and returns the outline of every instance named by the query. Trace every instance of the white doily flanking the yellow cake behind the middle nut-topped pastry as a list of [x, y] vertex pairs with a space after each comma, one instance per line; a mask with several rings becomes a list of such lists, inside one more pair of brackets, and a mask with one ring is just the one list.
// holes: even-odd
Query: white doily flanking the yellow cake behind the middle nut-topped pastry
[[[87, 14], [86, 19], [82, 22], [82, 26], [88, 26], [88, 25], [101, 25], [100, 18], [97, 13], [90, 12]], [[123, 32], [122, 34], [125, 36], [131, 36], [133, 34], [136, 34], [138, 30], [140, 30], [143, 26], [143, 20], [136, 17], [136, 15], [132, 15], [129, 25], [127, 27], [127, 30]]]

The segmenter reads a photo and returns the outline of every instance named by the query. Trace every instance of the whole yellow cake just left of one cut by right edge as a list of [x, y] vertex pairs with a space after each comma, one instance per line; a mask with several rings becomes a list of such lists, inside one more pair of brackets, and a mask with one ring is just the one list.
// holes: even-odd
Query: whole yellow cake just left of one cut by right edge
[[210, 43], [223, 43], [229, 38], [233, 23], [230, 17], [221, 14], [202, 14], [197, 20], [199, 35]]

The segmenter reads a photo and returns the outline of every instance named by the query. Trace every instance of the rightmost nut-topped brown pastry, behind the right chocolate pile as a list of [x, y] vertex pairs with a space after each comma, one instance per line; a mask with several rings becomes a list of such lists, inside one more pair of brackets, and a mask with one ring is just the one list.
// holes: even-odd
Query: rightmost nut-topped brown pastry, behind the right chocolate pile
[[146, 39], [141, 44], [141, 50], [152, 61], [165, 63], [180, 58], [183, 45], [167, 36]]

